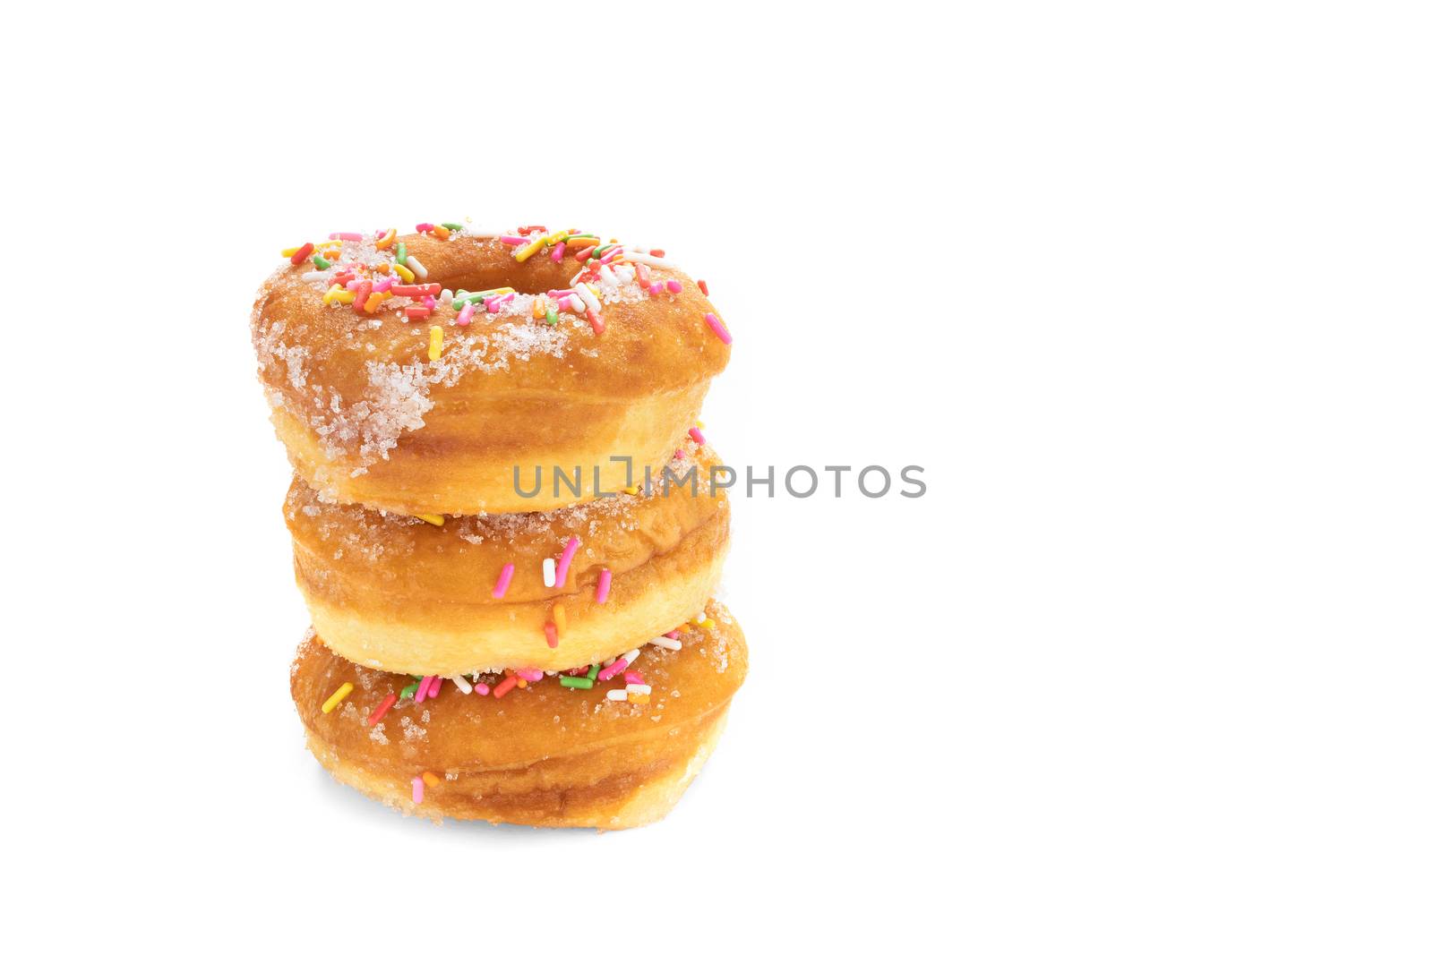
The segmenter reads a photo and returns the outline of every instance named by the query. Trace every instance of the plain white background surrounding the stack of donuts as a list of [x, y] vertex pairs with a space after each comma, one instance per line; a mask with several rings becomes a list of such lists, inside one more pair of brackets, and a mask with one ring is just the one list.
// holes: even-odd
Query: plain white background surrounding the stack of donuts
[[[937, 6], [9, 14], [14, 951], [1429, 951], [1427, 21]], [[404, 819], [288, 700], [254, 289], [464, 215], [708, 279], [728, 461], [926, 467], [735, 501], [648, 829]]]

